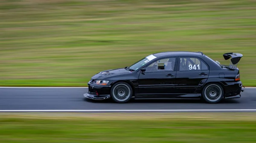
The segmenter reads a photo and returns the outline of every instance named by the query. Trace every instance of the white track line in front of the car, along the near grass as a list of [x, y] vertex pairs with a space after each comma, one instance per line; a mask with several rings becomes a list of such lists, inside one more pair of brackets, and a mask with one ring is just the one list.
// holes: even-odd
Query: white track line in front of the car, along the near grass
[[256, 109], [116, 109], [116, 110], [0, 110], [0, 112], [164, 112], [164, 111], [256, 111]]

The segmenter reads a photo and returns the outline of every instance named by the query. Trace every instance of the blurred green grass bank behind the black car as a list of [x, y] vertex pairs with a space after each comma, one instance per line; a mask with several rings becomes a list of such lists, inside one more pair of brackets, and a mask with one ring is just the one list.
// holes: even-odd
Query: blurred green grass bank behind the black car
[[87, 86], [151, 53], [202, 51], [256, 86], [252, 0], [2, 0], [0, 86]]

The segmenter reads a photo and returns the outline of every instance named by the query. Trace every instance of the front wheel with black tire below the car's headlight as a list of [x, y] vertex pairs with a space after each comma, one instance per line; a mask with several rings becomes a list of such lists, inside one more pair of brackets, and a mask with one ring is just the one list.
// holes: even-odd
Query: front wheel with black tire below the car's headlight
[[111, 88], [110, 95], [116, 103], [127, 103], [133, 95], [133, 90], [129, 84], [118, 82]]

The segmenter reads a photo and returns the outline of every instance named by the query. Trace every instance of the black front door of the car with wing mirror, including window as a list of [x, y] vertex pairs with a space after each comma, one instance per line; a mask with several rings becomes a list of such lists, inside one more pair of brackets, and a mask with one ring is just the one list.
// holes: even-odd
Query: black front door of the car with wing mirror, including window
[[176, 57], [152, 62], [140, 72], [137, 98], [166, 98], [175, 93]]

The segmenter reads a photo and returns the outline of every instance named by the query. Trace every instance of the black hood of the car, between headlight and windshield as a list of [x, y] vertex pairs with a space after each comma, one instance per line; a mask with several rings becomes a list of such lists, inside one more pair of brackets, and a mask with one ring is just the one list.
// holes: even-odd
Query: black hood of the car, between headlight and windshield
[[111, 69], [111, 70], [104, 70], [92, 77], [92, 79], [105, 79], [107, 77], [115, 76], [115, 75], [120, 75], [120, 74], [126, 74], [130, 73], [131, 71], [125, 70], [125, 68], [118, 68], [118, 69]]

